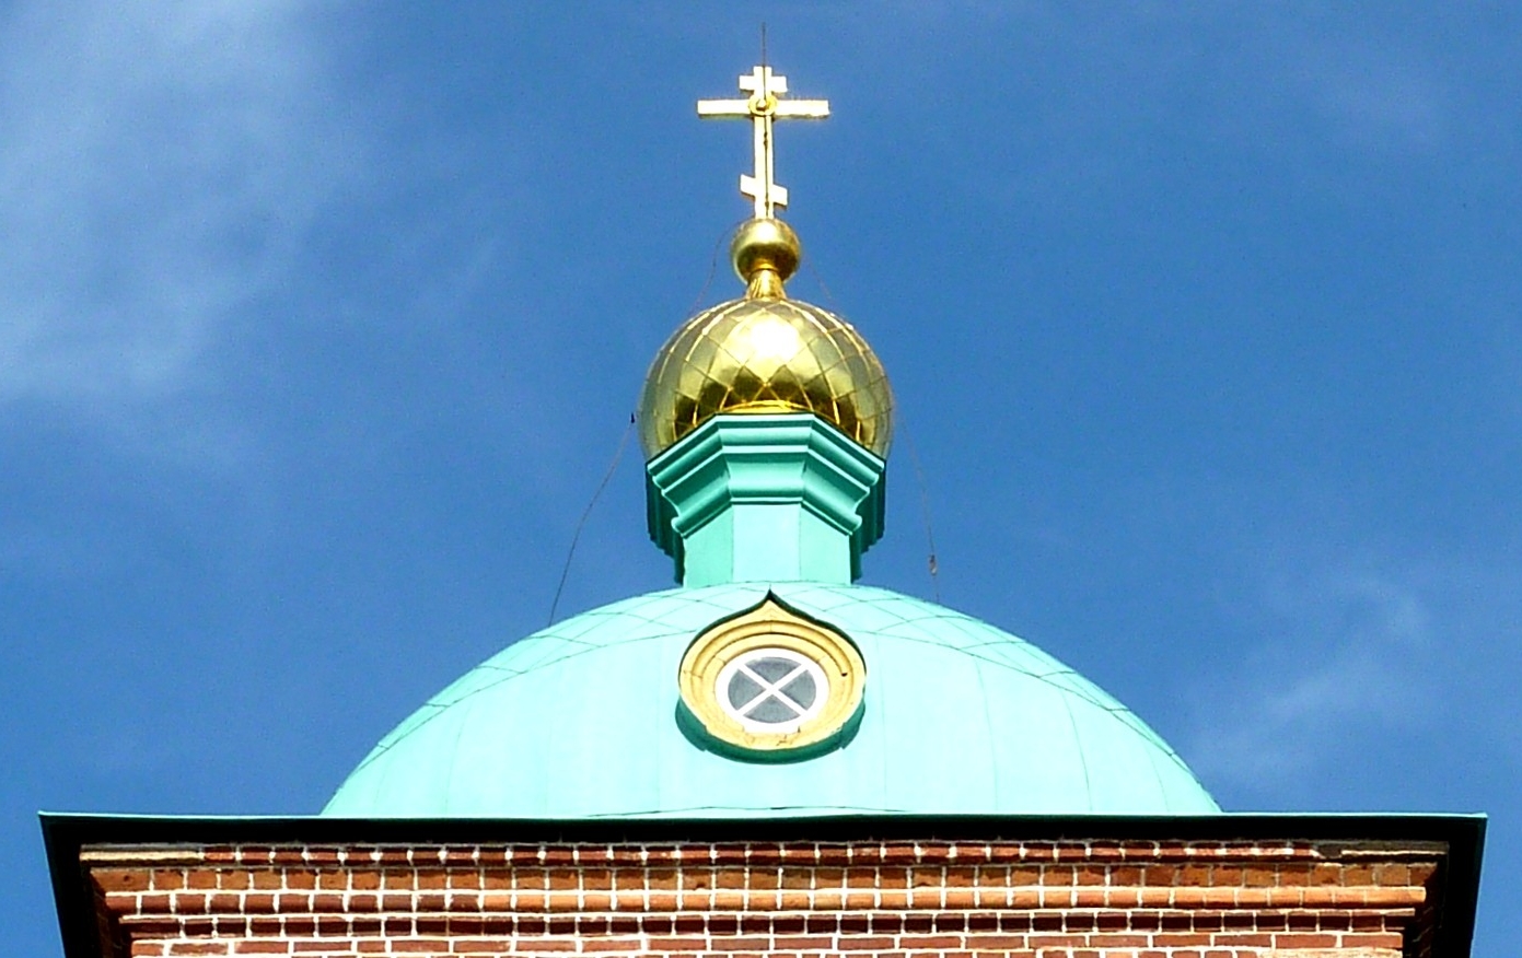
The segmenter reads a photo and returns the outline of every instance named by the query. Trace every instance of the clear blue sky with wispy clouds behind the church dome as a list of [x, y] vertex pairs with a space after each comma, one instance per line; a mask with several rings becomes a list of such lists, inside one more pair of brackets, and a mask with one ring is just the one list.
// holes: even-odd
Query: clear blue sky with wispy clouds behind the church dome
[[[1233, 810], [1484, 810], [1522, 896], [1522, 15], [772, 5], [807, 262], [893, 379], [866, 579]], [[752, 12], [0, 6], [0, 903], [38, 809], [306, 814], [543, 625], [735, 295]], [[562, 610], [670, 582], [630, 452]]]

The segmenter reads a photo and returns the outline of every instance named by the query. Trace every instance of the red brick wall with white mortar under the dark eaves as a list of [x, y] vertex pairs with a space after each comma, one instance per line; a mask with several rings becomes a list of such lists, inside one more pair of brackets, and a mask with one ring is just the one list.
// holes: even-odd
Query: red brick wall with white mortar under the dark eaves
[[671, 958], [1425, 955], [1390, 842], [85, 847], [102, 952]]

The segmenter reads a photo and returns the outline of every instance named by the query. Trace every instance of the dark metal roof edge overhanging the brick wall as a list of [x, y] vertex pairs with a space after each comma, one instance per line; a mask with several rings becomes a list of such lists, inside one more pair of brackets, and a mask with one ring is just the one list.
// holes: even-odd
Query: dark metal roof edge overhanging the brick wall
[[1487, 817], [1428, 812], [1208, 815], [808, 815], [796, 818], [323, 818], [40, 812], [67, 958], [100, 958], [79, 852], [96, 844], [482, 844], [895, 839], [1431, 841], [1447, 847], [1435, 953], [1467, 958]]

